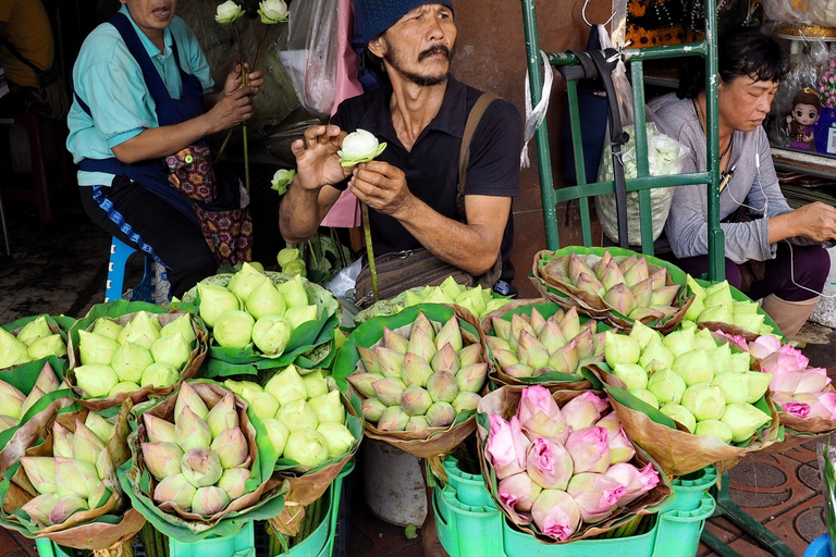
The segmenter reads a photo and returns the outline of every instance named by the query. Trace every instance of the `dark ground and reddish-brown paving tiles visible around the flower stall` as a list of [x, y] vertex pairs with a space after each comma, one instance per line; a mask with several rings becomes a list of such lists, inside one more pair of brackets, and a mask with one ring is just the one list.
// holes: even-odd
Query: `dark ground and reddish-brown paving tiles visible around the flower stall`
[[[83, 315], [103, 299], [109, 238], [88, 222], [73, 199], [63, 202], [56, 222], [47, 225], [38, 224], [26, 206], [7, 206], [5, 213], [14, 257], [10, 261], [0, 253], [0, 322], [41, 312]], [[135, 267], [134, 274], [139, 264]], [[836, 352], [829, 348], [831, 330], [808, 325], [803, 332], [809, 342], [804, 352], [811, 363], [836, 366]], [[347, 554], [420, 556], [418, 539], [407, 540], [402, 527], [373, 516], [362, 503], [358, 482], [349, 482], [354, 493]], [[732, 471], [730, 488], [732, 499], [778, 535], [797, 556], [824, 533], [823, 499], [811, 443], [784, 454], [745, 458]], [[745, 557], [770, 555], [724, 518], [710, 519], [708, 528]], [[0, 529], [0, 557], [28, 555], [36, 555], [30, 541]], [[716, 556], [702, 545], [698, 555]]]

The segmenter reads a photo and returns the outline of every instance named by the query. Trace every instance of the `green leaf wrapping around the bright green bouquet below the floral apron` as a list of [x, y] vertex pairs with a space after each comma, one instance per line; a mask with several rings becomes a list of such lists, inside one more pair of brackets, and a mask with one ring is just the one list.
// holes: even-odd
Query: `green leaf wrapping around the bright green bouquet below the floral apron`
[[[282, 284], [292, 278], [291, 275], [267, 271], [265, 273], [273, 284]], [[226, 287], [232, 278], [231, 273], [217, 274], [204, 278], [201, 283]], [[291, 363], [298, 368], [327, 368], [334, 357], [334, 337], [343, 317], [343, 307], [334, 295], [325, 288], [303, 278], [308, 302], [317, 306], [316, 321], [302, 323], [294, 329], [284, 351], [278, 356], [267, 356], [250, 344], [243, 350], [218, 346], [209, 334], [209, 359], [200, 370], [202, 377], [224, 377], [242, 374], [257, 374], [258, 370], [284, 368]], [[197, 287], [183, 295], [183, 301], [172, 307], [199, 314], [200, 297]]]

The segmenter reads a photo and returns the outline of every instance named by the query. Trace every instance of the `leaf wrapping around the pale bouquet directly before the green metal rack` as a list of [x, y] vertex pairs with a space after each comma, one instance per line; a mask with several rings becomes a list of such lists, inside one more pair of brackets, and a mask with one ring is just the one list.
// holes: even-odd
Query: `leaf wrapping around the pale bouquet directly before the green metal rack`
[[581, 258], [589, 267], [601, 260], [604, 252], [608, 252], [616, 263], [620, 263], [631, 256], [644, 258], [648, 261], [648, 270], [652, 274], [660, 269], [667, 270], [666, 286], [680, 285], [674, 300], [671, 302], [671, 314], [661, 310], [649, 310], [639, 321], [655, 329], [662, 334], [667, 334], [679, 324], [685, 317], [688, 307], [693, 301], [693, 296], [688, 295], [685, 286], [686, 275], [676, 265], [659, 258], [636, 253], [623, 248], [595, 248], [570, 246], [557, 251], [542, 250], [534, 255], [533, 265], [529, 278], [534, 288], [545, 298], [555, 301], [568, 309], [577, 306], [578, 311], [591, 318], [600, 319], [613, 326], [624, 329], [626, 332], [632, 329], [634, 319], [620, 313], [613, 306], [604, 301], [598, 294], [578, 288], [568, 278], [571, 258]]

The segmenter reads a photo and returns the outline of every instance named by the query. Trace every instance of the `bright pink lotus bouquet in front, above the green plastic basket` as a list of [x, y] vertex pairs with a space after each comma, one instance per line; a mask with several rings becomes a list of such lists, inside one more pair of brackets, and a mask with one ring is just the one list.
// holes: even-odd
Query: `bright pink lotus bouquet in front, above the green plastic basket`
[[541, 541], [629, 535], [637, 516], [668, 504], [665, 475], [634, 447], [605, 396], [506, 385], [479, 404], [478, 424], [494, 502]]

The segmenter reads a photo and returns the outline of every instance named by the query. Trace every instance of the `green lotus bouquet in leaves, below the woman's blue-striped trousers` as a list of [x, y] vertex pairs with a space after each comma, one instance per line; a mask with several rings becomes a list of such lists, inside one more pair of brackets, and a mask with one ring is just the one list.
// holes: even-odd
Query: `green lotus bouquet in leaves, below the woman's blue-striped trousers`
[[67, 383], [94, 410], [137, 404], [195, 376], [206, 352], [207, 332], [188, 312], [115, 300], [70, 331]]

